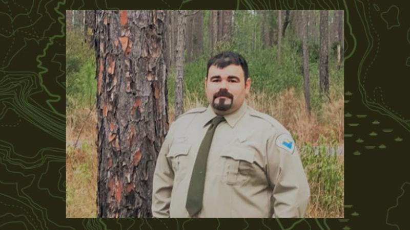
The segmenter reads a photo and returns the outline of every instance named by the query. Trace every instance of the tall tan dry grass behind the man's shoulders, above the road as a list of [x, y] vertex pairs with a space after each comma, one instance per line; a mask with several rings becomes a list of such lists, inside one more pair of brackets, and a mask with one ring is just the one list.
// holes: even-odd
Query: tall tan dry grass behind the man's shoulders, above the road
[[[332, 96], [331, 96], [332, 97]], [[332, 102], [322, 104], [319, 117], [315, 111], [311, 116], [305, 110], [303, 95], [296, 95], [295, 90], [285, 89], [277, 97], [270, 94], [250, 94], [246, 102], [252, 108], [269, 114], [278, 120], [294, 136], [297, 142], [317, 144], [319, 135], [326, 136], [328, 144], [343, 145], [344, 142], [344, 99], [343, 95], [333, 96]], [[184, 98], [184, 108], [188, 111], [199, 106], [207, 106], [206, 101], [196, 94]], [[174, 106], [170, 105], [169, 121], [174, 121]]]

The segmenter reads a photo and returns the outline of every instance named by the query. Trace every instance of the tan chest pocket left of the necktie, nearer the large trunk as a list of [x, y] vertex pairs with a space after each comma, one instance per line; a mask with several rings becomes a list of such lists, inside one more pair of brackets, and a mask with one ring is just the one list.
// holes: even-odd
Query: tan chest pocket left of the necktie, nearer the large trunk
[[175, 173], [175, 180], [180, 180], [183, 169], [188, 165], [188, 153], [191, 145], [188, 143], [174, 143], [171, 145], [167, 157], [171, 160], [172, 170]]

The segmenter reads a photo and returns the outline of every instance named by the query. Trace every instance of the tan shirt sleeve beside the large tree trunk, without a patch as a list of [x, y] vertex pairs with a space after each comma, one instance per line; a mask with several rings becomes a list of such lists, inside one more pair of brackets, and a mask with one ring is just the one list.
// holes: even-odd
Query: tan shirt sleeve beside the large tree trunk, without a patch
[[171, 163], [167, 159], [167, 154], [172, 141], [172, 125], [169, 129], [165, 141], [155, 166], [153, 188], [152, 188], [152, 215], [153, 217], [170, 217], [171, 191], [174, 181], [174, 171]]

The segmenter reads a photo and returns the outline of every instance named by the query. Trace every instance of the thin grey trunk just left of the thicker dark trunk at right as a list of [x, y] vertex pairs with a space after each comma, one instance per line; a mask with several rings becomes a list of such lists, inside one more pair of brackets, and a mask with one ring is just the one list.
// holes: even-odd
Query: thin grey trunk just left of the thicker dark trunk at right
[[305, 101], [306, 112], [311, 114], [311, 94], [310, 94], [310, 82], [309, 82], [309, 49], [308, 49], [308, 21], [309, 13], [305, 10], [302, 11], [302, 35], [303, 35], [303, 95]]

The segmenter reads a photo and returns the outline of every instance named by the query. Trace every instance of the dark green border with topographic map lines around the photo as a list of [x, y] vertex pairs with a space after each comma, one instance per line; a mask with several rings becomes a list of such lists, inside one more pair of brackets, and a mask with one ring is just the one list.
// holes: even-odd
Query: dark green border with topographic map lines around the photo
[[[178, 8], [345, 10], [344, 219], [65, 218], [65, 10]], [[409, 9], [384, 0], [0, 2], [0, 229], [410, 229]]]

